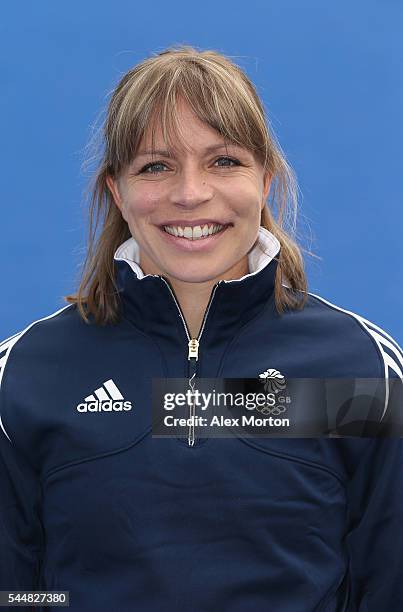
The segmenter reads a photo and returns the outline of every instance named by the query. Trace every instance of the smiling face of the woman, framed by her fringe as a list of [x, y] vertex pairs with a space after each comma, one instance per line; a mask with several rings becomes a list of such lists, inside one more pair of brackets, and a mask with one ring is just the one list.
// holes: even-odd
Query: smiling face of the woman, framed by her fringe
[[[180, 102], [181, 142], [166, 151], [145, 134], [134, 160], [107, 184], [140, 247], [145, 274], [191, 283], [239, 278], [259, 230], [269, 176]], [[165, 150], [165, 152], [164, 152]], [[218, 231], [217, 231], [218, 230]], [[213, 233], [212, 233], [213, 232]]]

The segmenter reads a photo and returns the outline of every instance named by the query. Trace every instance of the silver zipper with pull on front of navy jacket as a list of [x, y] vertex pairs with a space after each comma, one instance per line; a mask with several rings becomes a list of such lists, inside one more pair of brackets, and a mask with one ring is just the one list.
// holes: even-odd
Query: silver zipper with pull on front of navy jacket
[[[168, 287], [169, 291], [171, 292], [171, 295], [173, 297], [173, 300], [176, 304], [176, 307], [178, 309], [179, 312], [179, 316], [182, 320], [183, 323], [183, 327], [185, 329], [185, 333], [186, 333], [186, 337], [188, 340], [188, 350], [187, 350], [187, 359], [188, 359], [188, 375], [189, 375], [189, 387], [191, 389], [192, 392], [192, 397], [194, 399], [194, 392], [195, 392], [195, 378], [196, 378], [196, 371], [197, 371], [197, 361], [199, 359], [199, 344], [200, 344], [200, 339], [202, 337], [203, 331], [204, 331], [204, 327], [206, 325], [206, 320], [207, 320], [207, 316], [212, 304], [212, 301], [214, 299], [214, 295], [215, 292], [217, 291], [217, 288], [219, 286], [220, 283], [222, 283], [222, 280], [219, 280], [218, 283], [216, 283], [213, 287], [213, 290], [211, 292], [210, 295], [210, 299], [208, 301], [206, 310], [204, 311], [204, 315], [203, 315], [203, 321], [202, 324], [200, 326], [200, 331], [197, 335], [197, 338], [192, 338], [189, 332], [189, 328], [187, 326], [185, 317], [183, 316], [183, 312], [182, 309], [180, 307], [180, 304], [178, 302], [178, 300], [176, 299], [176, 295], [171, 287], [171, 285], [169, 284], [169, 282], [161, 275], [156, 274], [155, 276], [158, 276], [161, 280], [164, 281], [164, 283], [166, 284], [166, 286]], [[194, 419], [195, 419], [195, 402], [192, 401], [191, 405], [189, 406], [189, 433], [188, 433], [188, 445], [189, 446], [194, 446], [194, 442], [195, 442], [195, 434], [194, 434]]]

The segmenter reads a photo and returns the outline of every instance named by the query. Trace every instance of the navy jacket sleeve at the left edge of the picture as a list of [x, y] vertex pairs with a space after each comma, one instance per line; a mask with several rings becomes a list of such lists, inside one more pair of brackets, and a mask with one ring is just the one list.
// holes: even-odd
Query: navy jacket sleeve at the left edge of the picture
[[4, 367], [0, 371], [0, 590], [36, 590], [43, 549], [40, 479], [7, 431], [1, 374]]

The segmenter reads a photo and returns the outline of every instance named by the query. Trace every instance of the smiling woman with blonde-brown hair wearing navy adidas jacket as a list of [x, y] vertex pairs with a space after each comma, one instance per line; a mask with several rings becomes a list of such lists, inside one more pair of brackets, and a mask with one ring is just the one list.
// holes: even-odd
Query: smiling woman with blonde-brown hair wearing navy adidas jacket
[[402, 610], [401, 439], [152, 437], [153, 379], [402, 375], [393, 338], [308, 293], [252, 83], [168, 49], [124, 75], [103, 134], [79, 290], [0, 345], [0, 589], [74, 612]]

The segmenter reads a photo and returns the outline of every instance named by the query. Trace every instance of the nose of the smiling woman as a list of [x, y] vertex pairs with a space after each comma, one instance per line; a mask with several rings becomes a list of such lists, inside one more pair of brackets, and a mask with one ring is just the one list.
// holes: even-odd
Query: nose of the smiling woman
[[196, 164], [181, 168], [172, 184], [170, 194], [172, 204], [183, 208], [194, 208], [212, 197], [212, 188], [208, 185], [204, 172]]

